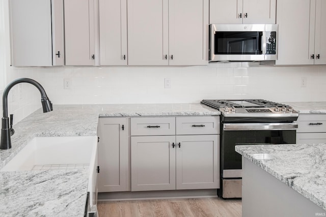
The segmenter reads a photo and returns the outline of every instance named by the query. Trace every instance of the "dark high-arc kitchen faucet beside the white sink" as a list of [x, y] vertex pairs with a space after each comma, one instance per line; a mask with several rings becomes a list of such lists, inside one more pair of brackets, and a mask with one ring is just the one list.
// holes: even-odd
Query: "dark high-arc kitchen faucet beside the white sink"
[[12, 129], [12, 115], [10, 117], [11, 124], [9, 125], [9, 117], [8, 117], [8, 94], [9, 90], [15, 86], [18, 83], [30, 83], [33, 84], [38, 88], [38, 90], [41, 93], [41, 103], [42, 103], [42, 108], [43, 112], [49, 112], [52, 111], [52, 103], [49, 100], [49, 98], [46, 95], [46, 92], [42, 85], [30, 78], [17, 78], [16, 80], [13, 80], [10, 82], [7, 87], [4, 90], [3, 94], [3, 118], [2, 118], [2, 129], [1, 129], [1, 145], [0, 149], [9, 149], [11, 148], [11, 135], [14, 134], [14, 130]]

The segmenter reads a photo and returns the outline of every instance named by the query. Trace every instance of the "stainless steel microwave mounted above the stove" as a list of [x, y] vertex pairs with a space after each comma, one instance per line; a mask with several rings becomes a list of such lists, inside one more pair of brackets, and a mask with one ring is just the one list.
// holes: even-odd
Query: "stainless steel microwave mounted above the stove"
[[209, 61], [277, 59], [277, 24], [210, 24]]

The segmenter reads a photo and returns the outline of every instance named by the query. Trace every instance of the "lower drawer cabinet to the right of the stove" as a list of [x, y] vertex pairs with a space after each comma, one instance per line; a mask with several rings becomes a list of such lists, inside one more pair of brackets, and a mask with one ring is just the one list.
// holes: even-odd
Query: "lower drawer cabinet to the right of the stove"
[[299, 114], [296, 143], [326, 143], [326, 114]]

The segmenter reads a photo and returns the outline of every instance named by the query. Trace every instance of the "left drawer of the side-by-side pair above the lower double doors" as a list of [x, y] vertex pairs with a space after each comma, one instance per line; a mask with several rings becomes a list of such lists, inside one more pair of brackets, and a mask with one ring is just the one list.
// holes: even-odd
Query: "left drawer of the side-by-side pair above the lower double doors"
[[175, 135], [175, 117], [130, 118], [131, 136]]

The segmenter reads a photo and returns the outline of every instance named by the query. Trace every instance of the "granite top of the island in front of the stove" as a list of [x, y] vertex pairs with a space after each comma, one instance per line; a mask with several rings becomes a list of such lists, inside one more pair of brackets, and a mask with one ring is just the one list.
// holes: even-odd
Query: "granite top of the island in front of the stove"
[[235, 150], [326, 210], [326, 144], [237, 145]]

